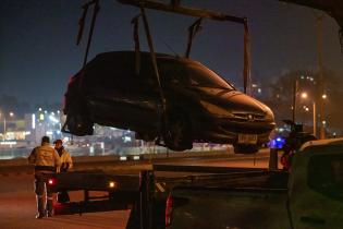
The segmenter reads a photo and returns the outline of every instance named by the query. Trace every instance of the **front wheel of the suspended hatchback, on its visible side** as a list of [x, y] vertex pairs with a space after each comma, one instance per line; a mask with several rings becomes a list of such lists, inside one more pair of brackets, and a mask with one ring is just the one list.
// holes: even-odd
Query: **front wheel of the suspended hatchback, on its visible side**
[[166, 117], [163, 141], [168, 148], [176, 152], [191, 149], [193, 147], [191, 133], [186, 116], [173, 112]]

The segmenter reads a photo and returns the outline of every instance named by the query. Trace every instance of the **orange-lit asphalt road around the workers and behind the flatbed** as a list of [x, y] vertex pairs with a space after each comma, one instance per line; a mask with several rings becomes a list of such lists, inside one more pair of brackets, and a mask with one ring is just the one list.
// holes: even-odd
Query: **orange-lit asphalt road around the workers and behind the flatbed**
[[[259, 158], [261, 157], [261, 158]], [[267, 168], [268, 154], [248, 157], [228, 158], [183, 158], [174, 161], [159, 161], [160, 164], [175, 165], [204, 165], [204, 166], [224, 166], [224, 167], [249, 167]], [[77, 165], [76, 165], [77, 166]], [[106, 165], [88, 164], [81, 169], [103, 169], [117, 172], [135, 173], [139, 169], [151, 168], [149, 162]], [[9, 168], [8, 168], [9, 169]], [[76, 169], [76, 168], [75, 168]], [[71, 192], [72, 201], [81, 201], [82, 192]], [[19, 168], [0, 176], [0, 228], [49, 228], [49, 229], [73, 229], [73, 228], [112, 228], [123, 229], [130, 216], [130, 210], [114, 210], [102, 213], [84, 213], [81, 216], [59, 215], [52, 218], [35, 219], [36, 206], [35, 194], [33, 191], [33, 176], [25, 170], [21, 172]]]

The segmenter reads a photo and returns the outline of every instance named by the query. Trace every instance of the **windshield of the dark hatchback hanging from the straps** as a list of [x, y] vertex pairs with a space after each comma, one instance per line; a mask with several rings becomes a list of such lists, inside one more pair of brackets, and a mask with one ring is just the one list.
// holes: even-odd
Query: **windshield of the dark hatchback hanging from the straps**
[[232, 85], [225, 82], [217, 73], [199, 63], [188, 64], [186, 68], [191, 77], [191, 84], [204, 87], [216, 87], [223, 89], [234, 89]]

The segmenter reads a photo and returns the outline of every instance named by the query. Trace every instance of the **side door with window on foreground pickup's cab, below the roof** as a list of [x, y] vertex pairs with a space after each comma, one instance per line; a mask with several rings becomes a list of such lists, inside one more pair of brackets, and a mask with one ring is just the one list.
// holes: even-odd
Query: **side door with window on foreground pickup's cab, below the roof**
[[313, 155], [306, 172], [290, 200], [294, 228], [343, 228], [343, 155]]

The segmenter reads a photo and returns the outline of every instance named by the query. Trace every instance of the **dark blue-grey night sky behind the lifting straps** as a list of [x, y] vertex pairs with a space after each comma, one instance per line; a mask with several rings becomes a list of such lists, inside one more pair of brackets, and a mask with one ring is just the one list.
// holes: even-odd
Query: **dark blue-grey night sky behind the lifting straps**
[[[75, 45], [81, 0], [0, 0], [0, 95], [32, 105], [62, 101], [68, 80], [82, 67], [87, 29]], [[186, 5], [247, 16], [252, 34], [253, 81], [264, 82], [291, 70], [316, 70], [316, 16], [320, 11], [275, 0], [194, 0]], [[131, 20], [139, 11], [114, 0], [100, 0], [89, 59], [112, 50], [132, 50]], [[183, 55], [194, 17], [148, 10], [155, 50]], [[88, 24], [90, 19], [88, 13]], [[324, 65], [343, 74], [335, 21], [323, 21]], [[140, 26], [143, 32], [143, 25]], [[140, 34], [143, 50], [146, 38]], [[242, 86], [243, 26], [205, 21], [191, 57]], [[88, 59], [88, 60], [89, 60]]]

